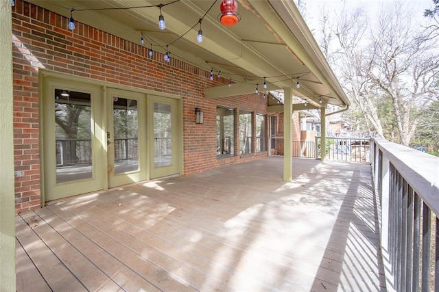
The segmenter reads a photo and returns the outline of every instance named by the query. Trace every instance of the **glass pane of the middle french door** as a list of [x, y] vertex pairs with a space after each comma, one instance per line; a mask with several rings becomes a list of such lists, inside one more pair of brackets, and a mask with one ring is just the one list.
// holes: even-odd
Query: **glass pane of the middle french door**
[[115, 174], [139, 170], [139, 114], [135, 99], [113, 97]]

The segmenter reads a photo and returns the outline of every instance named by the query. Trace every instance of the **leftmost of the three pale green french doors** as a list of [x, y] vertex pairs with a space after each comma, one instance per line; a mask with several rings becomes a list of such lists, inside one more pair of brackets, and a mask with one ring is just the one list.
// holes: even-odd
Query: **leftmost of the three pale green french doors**
[[45, 79], [40, 120], [45, 201], [104, 189], [101, 88]]

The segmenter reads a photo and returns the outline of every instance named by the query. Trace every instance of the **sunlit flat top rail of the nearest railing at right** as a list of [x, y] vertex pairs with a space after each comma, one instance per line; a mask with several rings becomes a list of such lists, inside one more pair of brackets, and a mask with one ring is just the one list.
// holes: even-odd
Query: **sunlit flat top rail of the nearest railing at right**
[[383, 139], [373, 139], [392, 165], [439, 216], [439, 157]]

